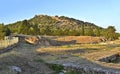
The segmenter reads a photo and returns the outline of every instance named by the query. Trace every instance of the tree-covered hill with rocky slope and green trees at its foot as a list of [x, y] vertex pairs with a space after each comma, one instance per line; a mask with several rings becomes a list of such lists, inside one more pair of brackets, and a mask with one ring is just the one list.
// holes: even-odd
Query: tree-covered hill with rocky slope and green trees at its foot
[[[3, 26], [3, 24], [1, 24]], [[65, 16], [36, 15], [29, 20], [5, 25], [4, 35], [9, 33], [51, 36], [104, 36], [109, 40], [118, 38], [114, 26], [102, 28], [94, 23], [84, 22]], [[0, 32], [1, 31], [0, 27]]]

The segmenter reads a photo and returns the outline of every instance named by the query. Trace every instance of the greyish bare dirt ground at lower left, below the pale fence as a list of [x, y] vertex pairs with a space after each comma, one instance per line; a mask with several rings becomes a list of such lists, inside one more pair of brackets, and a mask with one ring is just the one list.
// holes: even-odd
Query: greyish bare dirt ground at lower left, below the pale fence
[[12, 66], [19, 67], [21, 74], [52, 74], [45, 63], [36, 61], [37, 57], [34, 52], [37, 46], [26, 43], [19, 43], [19, 45], [12, 50], [0, 54], [0, 74], [16, 74], [11, 69]]

